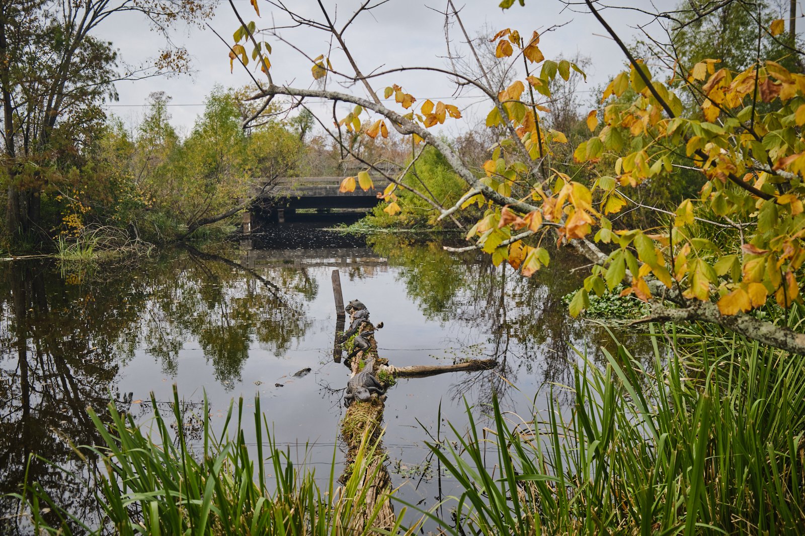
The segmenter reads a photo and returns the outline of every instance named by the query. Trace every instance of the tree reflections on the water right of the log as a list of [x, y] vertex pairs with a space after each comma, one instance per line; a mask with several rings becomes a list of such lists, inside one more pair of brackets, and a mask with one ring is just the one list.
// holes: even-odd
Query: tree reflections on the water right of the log
[[[551, 252], [551, 264], [525, 279], [508, 264], [494, 266], [481, 252], [448, 253], [441, 241], [418, 243], [401, 235], [374, 235], [368, 242], [390, 264], [402, 268], [399, 277], [408, 296], [429, 319], [464, 322], [489, 332], [483, 357], [496, 358], [500, 365], [462, 375], [451, 387], [452, 399], [466, 396], [483, 404], [491, 402], [493, 393], [505, 398], [518, 383], [518, 374], [570, 385], [576, 350], [594, 358], [603, 358], [602, 346], [614, 350], [605, 328], [568, 316], [562, 297], [583, 283], [580, 272], [572, 268], [584, 260], [567, 248]], [[616, 335], [641, 344], [627, 333]], [[475, 343], [454, 341], [456, 357], [477, 357]], [[467, 354], [460, 355], [461, 349]]]

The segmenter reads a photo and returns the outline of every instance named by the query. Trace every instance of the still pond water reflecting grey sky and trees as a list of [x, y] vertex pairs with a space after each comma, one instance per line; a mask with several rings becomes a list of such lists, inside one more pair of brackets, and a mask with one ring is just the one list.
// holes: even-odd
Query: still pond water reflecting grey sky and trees
[[[464, 400], [481, 426], [493, 392], [505, 410], [526, 414], [545, 405], [547, 385], [570, 381], [572, 346], [591, 354], [612, 346], [605, 329], [568, 317], [561, 298], [578, 288], [580, 272], [571, 270], [582, 264], [570, 252], [555, 252], [548, 268], [523, 280], [488, 256], [441, 248], [459, 239], [361, 238], [322, 226], [291, 223], [203, 252], [177, 249], [90, 272], [52, 260], [2, 264], [0, 495], [19, 490], [31, 453], [93, 470], [70, 446], [100, 442], [85, 408], [103, 415], [111, 397], [144, 421], [153, 392], [172, 419], [174, 384], [191, 409], [206, 394], [213, 423], [233, 398], [250, 410], [260, 395], [275, 441], [326, 481], [333, 452], [339, 464], [344, 456], [338, 423], [349, 377], [332, 358], [336, 268], [345, 299], [360, 299], [384, 322], [378, 351], [391, 364], [500, 363], [390, 388], [384, 444], [392, 481], [421, 507], [458, 491], [425, 441], [438, 428], [444, 437], [447, 421], [465, 429]], [[96, 516], [92, 490], [52, 465], [34, 459], [29, 478], [79, 518]], [[2, 534], [25, 532], [15, 506], [0, 498]]]

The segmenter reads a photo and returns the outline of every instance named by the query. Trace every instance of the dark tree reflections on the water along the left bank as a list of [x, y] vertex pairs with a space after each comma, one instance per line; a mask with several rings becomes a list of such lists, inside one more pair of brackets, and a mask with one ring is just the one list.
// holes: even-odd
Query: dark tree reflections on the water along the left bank
[[[266, 275], [196, 250], [135, 267], [61, 273], [52, 262], [0, 267], [0, 533], [26, 534], [15, 518], [25, 472], [77, 518], [98, 510], [93, 491], [51, 464], [96, 473], [72, 445], [100, 443], [86, 407], [103, 418], [109, 399], [126, 406], [118, 372], [146, 349], [175, 372], [184, 344], [200, 342], [218, 381], [239, 378], [250, 344], [282, 354], [310, 321], [298, 290], [316, 293], [304, 272]], [[136, 275], [132, 275], [136, 274]], [[143, 408], [144, 409], [144, 408]]]

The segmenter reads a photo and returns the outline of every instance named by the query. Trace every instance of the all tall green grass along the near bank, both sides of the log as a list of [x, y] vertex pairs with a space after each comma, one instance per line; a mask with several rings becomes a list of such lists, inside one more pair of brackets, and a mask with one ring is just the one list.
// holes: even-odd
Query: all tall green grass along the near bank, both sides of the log
[[[800, 315], [797, 308], [789, 325]], [[423, 518], [456, 536], [795, 534], [805, 523], [803, 357], [707, 329], [652, 327], [654, 351], [641, 358], [623, 346], [605, 362], [580, 355], [572, 385], [544, 393], [543, 411], [504, 413], [493, 398], [483, 409], [492, 423], [481, 426], [468, 406], [468, 432], [452, 423], [452, 435], [429, 444], [464, 489], [448, 498], [451, 517], [391, 492], [387, 500], [409, 512], [391, 534], [412, 534]], [[557, 391], [570, 395], [569, 407]], [[240, 432], [242, 399], [219, 436], [208, 419], [181, 413], [178, 395], [172, 407], [178, 427], [159, 411], [147, 426], [114, 405], [109, 424], [91, 413], [104, 444], [79, 450], [110, 471], [93, 475], [101, 526], [117, 534], [373, 532], [370, 522], [351, 525], [369, 488], [358, 483], [373, 478], [365, 473], [372, 445], [363, 444], [338, 491], [334, 462], [323, 484], [275, 446], [259, 399], [254, 451]], [[19, 499], [38, 534], [105, 534], [35, 483]]]

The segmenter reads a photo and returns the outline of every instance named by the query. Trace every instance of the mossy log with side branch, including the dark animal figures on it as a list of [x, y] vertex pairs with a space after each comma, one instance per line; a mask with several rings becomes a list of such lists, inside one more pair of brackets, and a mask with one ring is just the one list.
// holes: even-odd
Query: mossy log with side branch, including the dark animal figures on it
[[[339, 479], [342, 484], [349, 481], [352, 475], [353, 461], [357, 459], [364, 436], [369, 445], [374, 446], [374, 455], [365, 470], [360, 487], [365, 492], [365, 504], [360, 514], [353, 519], [350, 529], [363, 532], [370, 524], [371, 528], [390, 530], [394, 527], [394, 508], [389, 501], [391, 478], [386, 468], [386, 455], [380, 436], [382, 433], [383, 410], [386, 407], [386, 391], [390, 387], [383, 379], [413, 378], [456, 372], [460, 370], [489, 370], [497, 366], [494, 359], [468, 360], [454, 365], [424, 366], [390, 366], [387, 359], [378, 355], [378, 343], [374, 339], [377, 328], [369, 322], [369, 311], [360, 301], [353, 300], [345, 307], [350, 314], [357, 335], [351, 346], [345, 350], [349, 358], [345, 365], [349, 366], [351, 376], [345, 394], [347, 411], [341, 421], [341, 436], [347, 444], [347, 464], [345, 472]], [[352, 334], [350, 334], [350, 337]]]

